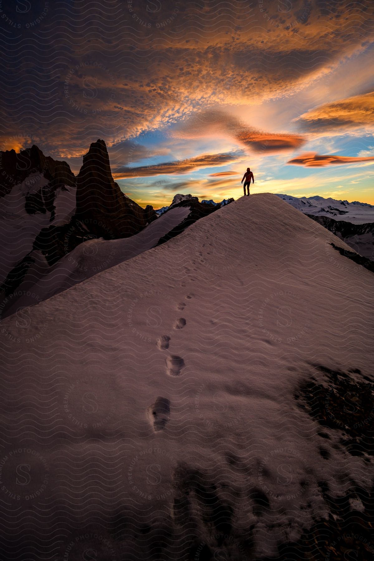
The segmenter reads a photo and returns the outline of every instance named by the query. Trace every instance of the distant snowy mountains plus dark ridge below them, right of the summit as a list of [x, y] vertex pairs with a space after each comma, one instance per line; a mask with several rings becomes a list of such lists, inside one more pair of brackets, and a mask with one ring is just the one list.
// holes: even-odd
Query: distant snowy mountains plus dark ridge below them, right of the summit
[[320, 195], [277, 196], [333, 232], [358, 254], [374, 260], [374, 205], [324, 199]]

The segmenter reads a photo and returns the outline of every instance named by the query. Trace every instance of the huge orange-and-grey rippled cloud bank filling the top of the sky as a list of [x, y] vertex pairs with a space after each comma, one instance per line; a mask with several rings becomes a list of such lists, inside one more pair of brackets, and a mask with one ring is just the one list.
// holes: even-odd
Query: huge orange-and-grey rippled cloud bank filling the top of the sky
[[[36, 67], [52, 68], [68, 26], [64, 70], [48, 77], [59, 103], [31, 95], [26, 106], [32, 118], [21, 125], [25, 98], [11, 96], [2, 107], [4, 131], [38, 134], [46, 153], [79, 157], [93, 135], [110, 147], [173, 125], [200, 108], [258, 105], [307, 90], [340, 61], [362, 52], [374, 36], [370, 0], [341, 0], [331, 9], [306, 0], [252, 6], [231, 0], [219, 8], [214, 2], [163, 0], [160, 10], [153, 9], [160, 2], [150, 2], [151, 10], [147, 2], [115, 4], [115, 20], [107, 15], [112, 25], [98, 16], [96, 27], [105, 24], [105, 33], [89, 39], [83, 7], [75, 10], [73, 26], [68, 12], [57, 18], [52, 35], [50, 20], [41, 22], [48, 49], [34, 49], [32, 65], [20, 53], [20, 64], [4, 75], [4, 88], [21, 91], [34, 80]], [[269, 139], [267, 146], [276, 142]]]

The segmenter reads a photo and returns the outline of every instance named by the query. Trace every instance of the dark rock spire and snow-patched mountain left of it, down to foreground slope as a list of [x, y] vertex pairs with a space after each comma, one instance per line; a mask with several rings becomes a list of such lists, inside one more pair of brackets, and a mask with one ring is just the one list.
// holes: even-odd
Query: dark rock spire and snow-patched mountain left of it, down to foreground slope
[[80, 243], [130, 237], [157, 218], [152, 206], [143, 209], [114, 182], [103, 140], [91, 144], [77, 176], [35, 145], [0, 152], [0, 183], [1, 317], [9, 304], [4, 298], [30, 271], [36, 280]]

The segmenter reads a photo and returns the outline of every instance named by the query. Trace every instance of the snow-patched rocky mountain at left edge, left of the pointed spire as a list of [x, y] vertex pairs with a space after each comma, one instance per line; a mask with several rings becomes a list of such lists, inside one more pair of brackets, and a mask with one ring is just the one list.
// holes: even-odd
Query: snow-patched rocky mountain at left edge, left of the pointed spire
[[[0, 224], [0, 289], [19, 286], [41, 231], [67, 224], [75, 211], [75, 177], [66, 162], [59, 162], [33, 146], [16, 154], [0, 153], [2, 174]], [[17, 273], [21, 276], [17, 278]], [[10, 287], [10, 290], [12, 290]]]

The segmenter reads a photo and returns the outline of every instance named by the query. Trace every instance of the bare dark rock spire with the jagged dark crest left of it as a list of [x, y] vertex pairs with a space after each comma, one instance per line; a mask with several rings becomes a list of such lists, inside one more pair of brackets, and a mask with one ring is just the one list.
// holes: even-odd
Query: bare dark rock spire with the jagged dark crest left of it
[[[66, 162], [45, 157], [35, 145], [18, 154], [15, 150], [0, 153], [0, 167], [0, 196], [7, 195], [13, 186], [25, 182], [24, 191], [29, 191], [26, 196], [34, 196], [42, 201], [48, 194], [48, 200], [53, 204], [59, 188], [75, 187], [75, 217], [89, 219], [88, 229], [104, 238], [132, 236], [157, 218], [152, 206], [147, 205], [143, 209], [124, 195], [118, 183], [114, 182], [104, 140], [99, 139], [90, 145], [77, 177]], [[40, 180], [40, 177], [34, 177], [35, 174], [40, 174], [47, 181], [38, 190], [31, 192], [32, 187]], [[42, 204], [39, 205], [39, 210], [43, 212]], [[29, 211], [29, 214], [32, 213], [32, 210]]]

